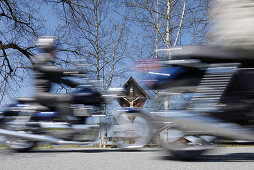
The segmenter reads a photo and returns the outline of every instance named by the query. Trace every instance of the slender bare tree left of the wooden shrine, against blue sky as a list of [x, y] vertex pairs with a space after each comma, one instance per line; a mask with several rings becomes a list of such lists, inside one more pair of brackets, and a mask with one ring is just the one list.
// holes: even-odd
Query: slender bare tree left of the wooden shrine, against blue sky
[[[121, 66], [128, 47], [127, 17], [119, 3], [110, 0], [48, 0], [62, 21], [62, 40], [81, 59], [92, 64], [91, 74], [107, 89], [123, 77]], [[106, 114], [106, 106], [105, 106]]]

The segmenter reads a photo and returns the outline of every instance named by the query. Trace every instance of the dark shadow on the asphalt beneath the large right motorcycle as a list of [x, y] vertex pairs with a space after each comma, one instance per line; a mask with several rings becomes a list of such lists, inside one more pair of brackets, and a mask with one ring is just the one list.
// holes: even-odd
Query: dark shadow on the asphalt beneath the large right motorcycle
[[173, 156], [162, 156], [162, 160], [177, 160], [188, 162], [254, 162], [254, 153], [232, 153], [226, 155], [201, 155], [193, 159], [179, 160]]

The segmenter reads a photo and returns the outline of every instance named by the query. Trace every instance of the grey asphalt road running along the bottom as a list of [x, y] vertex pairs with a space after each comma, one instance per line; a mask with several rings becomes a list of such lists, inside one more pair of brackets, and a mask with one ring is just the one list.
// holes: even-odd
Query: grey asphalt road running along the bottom
[[0, 150], [0, 169], [254, 169], [254, 147], [219, 148], [192, 161], [177, 161], [156, 149], [123, 151], [116, 149], [35, 150], [14, 153]]

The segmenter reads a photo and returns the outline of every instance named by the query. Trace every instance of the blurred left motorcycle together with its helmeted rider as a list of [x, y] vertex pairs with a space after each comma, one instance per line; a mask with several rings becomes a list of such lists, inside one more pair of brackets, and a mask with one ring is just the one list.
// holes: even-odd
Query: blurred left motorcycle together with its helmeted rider
[[[0, 135], [6, 137], [6, 145], [16, 151], [29, 151], [38, 143], [86, 145], [98, 140], [106, 122], [98, 122], [106, 116], [104, 106], [109, 98], [118, 98], [124, 94], [122, 88], [109, 88], [106, 94], [100, 93], [99, 86], [92, 82], [82, 68], [82, 61], [72, 63], [77, 70], [62, 69], [54, 66], [56, 46], [54, 37], [41, 37], [36, 45], [42, 53], [35, 56], [36, 95], [31, 98], [18, 98], [1, 112]], [[74, 83], [70, 79], [79, 79]], [[83, 82], [82, 80], [85, 80]], [[51, 92], [53, 83], [64, 83], [75, 88], [70, 94]], [[73, 85], [72, 85], [73, 84]], [[130, 112], [129, 110], [125, 113]], [[136, 125], [124, 120], [123, 114], [114, 118], [113, 133], [119, 140], [129, 145], [117, 145], [122, 148], [144, 146], [148, 136], [137, 136]], [[121, 125], [123, 123], [124, 125]], [[128, 136], [121, 136], [122, 131]], [[126, 133], [125, 133], [126, 134]], [[141, 139], [141, 140], [140, 140]], [[131, 142], [130, 142], [131, 140]], [[124, 141], [124, 142], [123, 142]]]

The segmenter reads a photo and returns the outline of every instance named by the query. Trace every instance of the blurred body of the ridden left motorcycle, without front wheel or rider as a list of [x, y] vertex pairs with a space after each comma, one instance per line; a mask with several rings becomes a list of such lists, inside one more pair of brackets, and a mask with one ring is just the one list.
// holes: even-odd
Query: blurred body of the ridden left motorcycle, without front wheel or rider
[[6, 145], [17, 151], [29, 151], [39, 142], [90, 144], [96, 141], [100, 125], [91, 119], [101, 115], [104, 97], [95, 86], [84, 84], [72, 95], [73, 115], [68, 116], [68, 122], [56, 110], [40, 105], [36, 98], [18, 98], [6, 107], [0, 124]]

